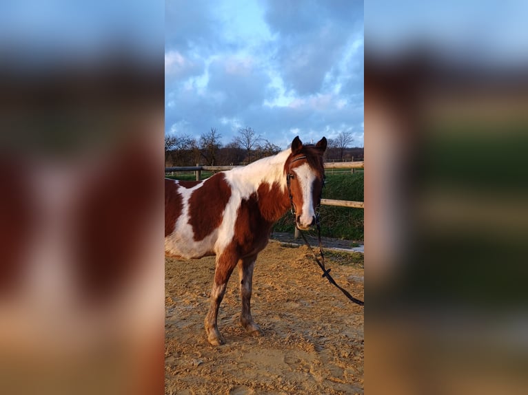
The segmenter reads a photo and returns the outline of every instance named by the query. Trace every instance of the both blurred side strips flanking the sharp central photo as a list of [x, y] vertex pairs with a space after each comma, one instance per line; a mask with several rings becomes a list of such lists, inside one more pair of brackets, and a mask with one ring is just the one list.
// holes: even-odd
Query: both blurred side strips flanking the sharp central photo
[[[527, 392], [527, 14], [365, 4], [369, 394]], [[2, 394], [163, 391], [164, 29], [0, 5]]]

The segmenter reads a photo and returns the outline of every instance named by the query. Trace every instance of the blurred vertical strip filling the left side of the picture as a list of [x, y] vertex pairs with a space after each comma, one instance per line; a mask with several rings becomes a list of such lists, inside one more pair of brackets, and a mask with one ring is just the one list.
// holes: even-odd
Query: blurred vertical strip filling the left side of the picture
[[163, 391], [161, 1], [0, 4], [0, 393]]

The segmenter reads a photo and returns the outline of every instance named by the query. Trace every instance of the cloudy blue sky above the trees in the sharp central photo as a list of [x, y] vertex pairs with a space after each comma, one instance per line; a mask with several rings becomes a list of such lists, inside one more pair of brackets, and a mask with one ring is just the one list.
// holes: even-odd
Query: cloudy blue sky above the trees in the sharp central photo
[[363, 147], [363, 1], [167, 0], [165, 133]]

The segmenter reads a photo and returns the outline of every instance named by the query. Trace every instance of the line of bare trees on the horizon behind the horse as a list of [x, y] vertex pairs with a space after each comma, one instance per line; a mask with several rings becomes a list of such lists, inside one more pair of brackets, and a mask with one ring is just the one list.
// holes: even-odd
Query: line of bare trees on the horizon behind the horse
[[[237, 165], [247, 164], [281, 151], [281, 147], [262, 138], [251, 127], [238, 130], [234, 138], [223, 145], [222, 135], [212, 127], [201, 134], [199, 139], [188, 135], [165, 136], [165, 164], [167, 166]], [[350, 148], [352, 134], [341, 132], [335, 139], [329, 139], [327, 160], [350, 160], [361, 156], [363, 148]]]

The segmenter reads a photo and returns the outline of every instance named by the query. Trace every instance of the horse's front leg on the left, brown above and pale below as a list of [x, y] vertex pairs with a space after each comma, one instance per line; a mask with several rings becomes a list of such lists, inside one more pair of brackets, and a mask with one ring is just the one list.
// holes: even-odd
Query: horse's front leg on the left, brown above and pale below
[[216, 268], [214, 270], [214, 282], [211, 290], [211, 307], [207, 316], [205, 316], [205, 332], [207, 333], [207, 341], [212, 345], [221, 345], [225, 343], [225, 339], [220, 334], [218, 328], [218, 312], [220, 303], [222, 302], [227, 280], [233, 272], [234, 266], [238, 257], [234, 254], [224, 252], [222, 255], [216, 257]]

